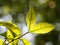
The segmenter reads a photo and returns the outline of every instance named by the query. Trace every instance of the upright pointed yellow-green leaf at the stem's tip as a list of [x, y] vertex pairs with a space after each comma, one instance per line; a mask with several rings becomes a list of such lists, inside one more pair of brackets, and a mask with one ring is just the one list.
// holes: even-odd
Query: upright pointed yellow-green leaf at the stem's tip
[[31, 25], [34, 25], [36, 22], [36, 15], [32, 6], [30, 6], [30, 9], [26, 15], [26, 22], [28, 29], [30, 28]]

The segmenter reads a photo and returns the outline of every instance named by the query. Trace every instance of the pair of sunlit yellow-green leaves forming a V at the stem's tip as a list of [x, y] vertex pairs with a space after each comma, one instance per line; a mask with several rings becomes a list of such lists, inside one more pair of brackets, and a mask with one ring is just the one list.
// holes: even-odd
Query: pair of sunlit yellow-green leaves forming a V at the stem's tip
[[41, 22], [41, 23], [35, 24], [36, 15], [35, 15], [34, 9], [32, 7], [30, 7], [30, 9], [26, 15], [26, 22], [27, 22], [29, 32], [32, 32], [32, 33], [45, 34], [55, 28], [54, 25], [49, 24], [49, 23]]

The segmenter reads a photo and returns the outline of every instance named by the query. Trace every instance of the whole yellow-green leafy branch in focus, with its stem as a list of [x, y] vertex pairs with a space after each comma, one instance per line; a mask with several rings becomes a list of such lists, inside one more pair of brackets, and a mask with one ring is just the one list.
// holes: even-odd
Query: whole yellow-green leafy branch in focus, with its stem
[[[30, 6], [30, 9], [26, 15], [26, 23], [28, 27], [28, 32], [22, 35], [20, 29], [14, 23], [0, 22], [0, 26], [5, 26], [9, 29], [1, 35], [5, 37], [5, 39], [9, 42], [8, 44], [10, 45], [18, 45], [19, 40], [21, 40], [24, 45], [30, 45], [29, 41], [22, 38], [24, 35], [28, 33], [45, 34], [55, 28], [54, 25], [46, 22], [40, 22], [36, 24], [36, 15], [32, 6]], [[0, 39], [0, 45], [8, 45], [5, 44], [5, 41], [3, 42], [3, 40]]]

